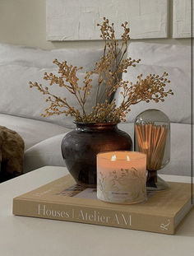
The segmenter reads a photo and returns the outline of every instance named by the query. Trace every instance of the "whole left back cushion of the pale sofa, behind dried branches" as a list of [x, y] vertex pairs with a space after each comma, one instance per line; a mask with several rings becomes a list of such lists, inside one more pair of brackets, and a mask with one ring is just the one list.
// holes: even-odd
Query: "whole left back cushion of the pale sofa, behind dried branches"
[[[75, 127], [72, 123], [73, 118], [66, 117], [64, 114], [43, 119], [41, 114], [44, 113], [48, 104], [45, 103], [44, 97], [39, 91], [30, 90], [28, 82], [39, 81], [48, 86], [48, 83], [43, 80], [44, 72], [57, 74], [58, 69], [53, 64], [53, 59], [58, 58], [59, 61], [66, 60], [68, 64], [83, 67], [83, 70], [78, 73], [78, 84], [83, 85], [84, 71], [90, 71], [103, 53], [104, 49], [42, 50], [12, 44], [0, 44], [0, 113], [46, 120], [67, 128]], [[92, 79], [93, 88], [90, 99], [85, 104], [88, 113], [91, 106], [95, 105], [94, 94], [98, 85], [98, 76], [94, 74]], [[103, 91], [103, 86], [101, 90]], [[56, 95], [63, 95], [67, 98], [69, 105], [81, 110], [69, 92], [65, 92], [58, 86], [53, 86], [52, 91]]]

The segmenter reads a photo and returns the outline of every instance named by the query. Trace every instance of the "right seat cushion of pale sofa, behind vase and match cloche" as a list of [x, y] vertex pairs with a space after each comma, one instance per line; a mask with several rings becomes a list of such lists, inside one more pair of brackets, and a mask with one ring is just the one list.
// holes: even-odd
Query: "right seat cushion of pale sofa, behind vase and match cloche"
[[[134, 137], [133, 123], [119, 123], [118, 128]], [[65, 134], [50, 137], [25, 151], [25, 172], [44, 165], [65, 166], [61, 142]], [[182, 143], [182, 136], [184, 143]], [[51, 147], [52, 145], [52, 147]], [[171, 160], [159, 174], [191, 175], [191, 125], [171, 123]]]

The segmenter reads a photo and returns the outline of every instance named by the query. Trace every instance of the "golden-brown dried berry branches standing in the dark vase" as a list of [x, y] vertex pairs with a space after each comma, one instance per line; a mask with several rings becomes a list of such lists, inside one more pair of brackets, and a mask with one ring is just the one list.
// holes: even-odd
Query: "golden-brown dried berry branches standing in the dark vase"
[[[81, 106], [81, 110], [74, 109], [73, 106], [68, 104], [66, 98], [61, 98], [57, 95], [53, 95], [48, 91], [48, 87], [43, 87], [37, 82], [30, 81], [30, 87], [35, 87], [41, 91], [44, 95], [48, 95], [46, 101], [50, 103], [50, 106], [45, 109], [44, 117], [53, 114], [66, 114], [73, 116], [78, 122], [85, 123], [112, 123], [125, 121], [126, 114], [131, 110], [131, 105], [136, 105], [141, 101], [149, 103], [151, 100], [156, 103], [164, 101], [164, 97], [173, 95], [172, 90], [165, 91], [164, 87], [169, 84], [168, 73], [164, 72], [162, 76], [150, 74], [143, 78], [143, 75], [137, 77], [136, 83], [122, 80], [122, 73], [127, 72], [128, 67], [136, 67], [140, 59], [125, 58], [127, 53], [127, 44], [130, 40], [129, 28], [127, 27], [127, 21], [122, 24], [123, 33], [121, 36], [121, 42], [115, 38], [115, 31], [113, 23], [109, 25], [109, 20], [104, 17], [102, 25], [97, 24], [100, 27], [100, 38], [104, 40], [104, 54], [100, 58], [99, 63], [95, 63], [94, 70], [85, 72], [83, 86], [78, 86], [78, 80], [76, 73], [82, 69], [82, 67], [72, 67], [68, 65], [66, 61], [60, 63], [57, 59], [53, 61], [58, 66], [58, 74], [44, 73], [44, 80], [49, 81], [49, 86], [58, 85], [64, 87], [76, 97], [77, 102]], [[85, 112], [85, 102], [92, 88], [91, 76], [98, 74], [99, 81], [96, 90], [95, 106], [91, 109], [91, 113]], [[105, 85], [105, 86], [104, 86]], [[101, 88], [102, 87], [102, 88]], [[122, 88], [122, 103], [120, 106], [115, 104], [115, 100], [109, 102], [110, 96]], [[99, 95], [100, 89], [104, 89], [103, 93]]]

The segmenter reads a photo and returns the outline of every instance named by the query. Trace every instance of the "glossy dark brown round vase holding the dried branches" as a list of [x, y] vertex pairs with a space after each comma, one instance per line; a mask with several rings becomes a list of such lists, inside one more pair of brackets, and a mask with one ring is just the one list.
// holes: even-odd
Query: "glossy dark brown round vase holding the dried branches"
[[103, 151], [132, 151], [132, 138], [117, 123], [76, 123], [62, 139], [62, 156], [77, 184], [96, 185], [96, 155]]

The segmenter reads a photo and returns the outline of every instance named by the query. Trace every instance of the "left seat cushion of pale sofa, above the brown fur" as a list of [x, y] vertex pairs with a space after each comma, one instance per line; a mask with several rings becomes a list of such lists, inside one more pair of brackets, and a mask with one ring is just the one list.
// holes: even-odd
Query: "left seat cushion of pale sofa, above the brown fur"
[[20, 118], [9, 114], [0, 114], [0, 125], [6, 126], [20, 134], [25, 141], [25, 150], [44, 141], [48, 137], [70, 131], [53, 123]]

